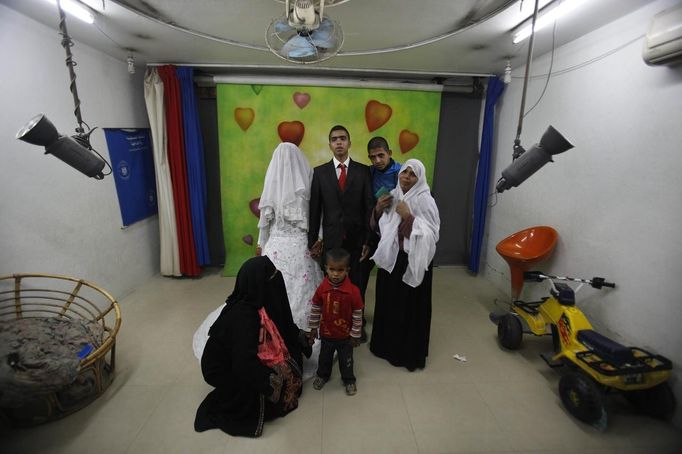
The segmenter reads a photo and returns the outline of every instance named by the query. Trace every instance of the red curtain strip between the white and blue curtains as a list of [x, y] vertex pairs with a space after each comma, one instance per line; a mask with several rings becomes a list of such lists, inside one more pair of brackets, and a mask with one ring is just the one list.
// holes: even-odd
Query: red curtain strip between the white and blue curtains
[[201, 268], [199, 268], [194, 247], [194, 233], [187, 189], [180, 84], [175, 75], [174, 66], [161, 66], [158, 70], [164, 87], [168, 160], [173, 184], [173, 200], [175, 201], [180, 271], [186, 276], [198, 276], [201, 273]]

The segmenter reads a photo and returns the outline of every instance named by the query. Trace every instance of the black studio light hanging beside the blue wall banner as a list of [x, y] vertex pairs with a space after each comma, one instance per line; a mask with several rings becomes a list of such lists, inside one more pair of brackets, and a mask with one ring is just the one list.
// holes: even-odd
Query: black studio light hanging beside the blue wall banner
[[73, 138], [63, 136], [44, 114], [38, 114], [17, 132], [16, 138], [45, 147], [45, 154], [51, 154], [79, 172], [101, 180], [104, 178], [102, 169], [106, 163], [90, 147], [89, 136], [92, 131], [94, 129], [88, 134]]

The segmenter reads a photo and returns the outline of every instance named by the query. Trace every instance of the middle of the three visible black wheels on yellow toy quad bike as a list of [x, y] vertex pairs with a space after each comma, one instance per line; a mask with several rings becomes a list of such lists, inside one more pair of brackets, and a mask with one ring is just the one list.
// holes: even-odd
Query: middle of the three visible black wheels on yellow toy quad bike
[[595, 424], [605, 415], [602, 390], [583, 373], [571, 372], [561, 377], [559, 396], [569, 413], [582, 422]]

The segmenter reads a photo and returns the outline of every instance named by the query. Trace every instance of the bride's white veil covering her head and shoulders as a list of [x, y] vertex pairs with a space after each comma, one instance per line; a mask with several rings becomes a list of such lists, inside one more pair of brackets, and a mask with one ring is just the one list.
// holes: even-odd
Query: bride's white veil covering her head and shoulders
[[277, 217], [308, 229], [308, 201], [313, 171], [303, 152], [283, 142], [272, 153], [260, 196], [258, 228], [265, 229]]

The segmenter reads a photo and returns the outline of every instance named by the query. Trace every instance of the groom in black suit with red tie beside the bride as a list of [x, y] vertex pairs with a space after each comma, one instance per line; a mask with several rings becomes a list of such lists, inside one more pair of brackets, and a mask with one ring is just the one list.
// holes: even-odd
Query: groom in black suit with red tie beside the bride
[[[374, 209], [369, 167], [348, 156], [350, 133], [336, 125], [329, 131], [334, 157], [315, 167], [310, 189], [308, 248], [314, 258], [342, 247], [350, 253], [350, 280], [365, 298], [360, 262], [369, 255], [369, 216]], [[320, 235], [320, 223], [322, 234]], [[362, 330], [365, 338], [365, 330]]]

